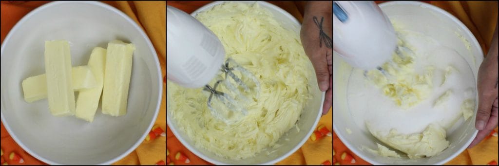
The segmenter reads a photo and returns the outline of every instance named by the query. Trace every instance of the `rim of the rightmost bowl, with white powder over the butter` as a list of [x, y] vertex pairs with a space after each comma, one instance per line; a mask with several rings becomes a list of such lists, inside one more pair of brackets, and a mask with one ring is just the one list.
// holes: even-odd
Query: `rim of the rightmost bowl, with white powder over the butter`
[[[440, 7], [437, 7], [437, 6], [433, 5], [433, 4], [425, 3], [425, 2], [421, 2], [421, 1], [387, 1], [387, 2], [379, 3], [378, 5], [381, 8], [383, 6], [396, 5], [396, 4], [418, 5], [420, 7], [430, 8], [430, 9], [432, 9], [434, 11], [439, 12], [440, 14], [444, 14], [445, 16], [447, 16], [448, 18], [450, 18], [452, 22], [457, 23], [458, 26], [462, 27], [463, 30], [464, 30], [464, 33], [466, 33], [467, 35], [469, 35], [469, 36], [472, 37], [471, 38], [472, 41], [470, 41], [470, 42], [472, 42], [475, 46], [478, 46], [478, 48], [477, 48], [478, 51], [481, 53], [481, 55], [483, 55], [482, 47], [480, 46], [480, 44], [479, 44], [477, 38], [475, 37], [475, 35], [473, 35], [473, 33], [470, 31], [470, 29], [465, 24], [463, 24], [463, 22], [461, 22], [458, 18], [456, 18], [454, 15], [450, 14], [446, 10], [444, 10], [444, 9], [442, 9]], [[476, 111], [477, 110], [475, 109], [475, 113], [474, 114], [476, 114]], [[338, 127], [336, 127], [336, 125], [334, 125], [334, 121], [333, 121], [333, 130], [339, 131]], [[441, 160], [441, 161], [439, 161], [437, 163], [434, 163], [433, 165], [443, 165], [443, 164], [451, 161], [452, 159], [456, 158], [466, 148], [468, 148], [468, 146], [471, 144], [471, 142], [474, 140], [474, 138], [476, 137], [477, 134], [478, 134], [478, 130], [475, 129], [475, 131], [472, 134], [471, 139], [469, 139], [465, 143], [465, 146], [461, 147], [460, 149], [458, 149], [456, 151], [456, 152], [459, 152], [459, 153], [454, 153], [451, 156], [445, 158], [444, 160]], [[371, 158], [368, 158], [367, 156], [363, 155], [363, 153], [360, 153], [357, 148], [355, 148], [353, 145], [351, 145], [350, 143], [348, 143], [347, 139], [345, 137], [343, 137], [343, 135], [341, 133], [336, 133], [336, 136], [341, 140], [341, 142], [349, 150], [351, 150], [355, 155], [357, 155], [358, 157], [360, 157], [362, 160], [365, 160], [366, 162], [368, 162], [370, 164], [373, 164], [373, 165], [385, 165], [384, 163], [378, 163], [377, 161], [374, 161]]]

